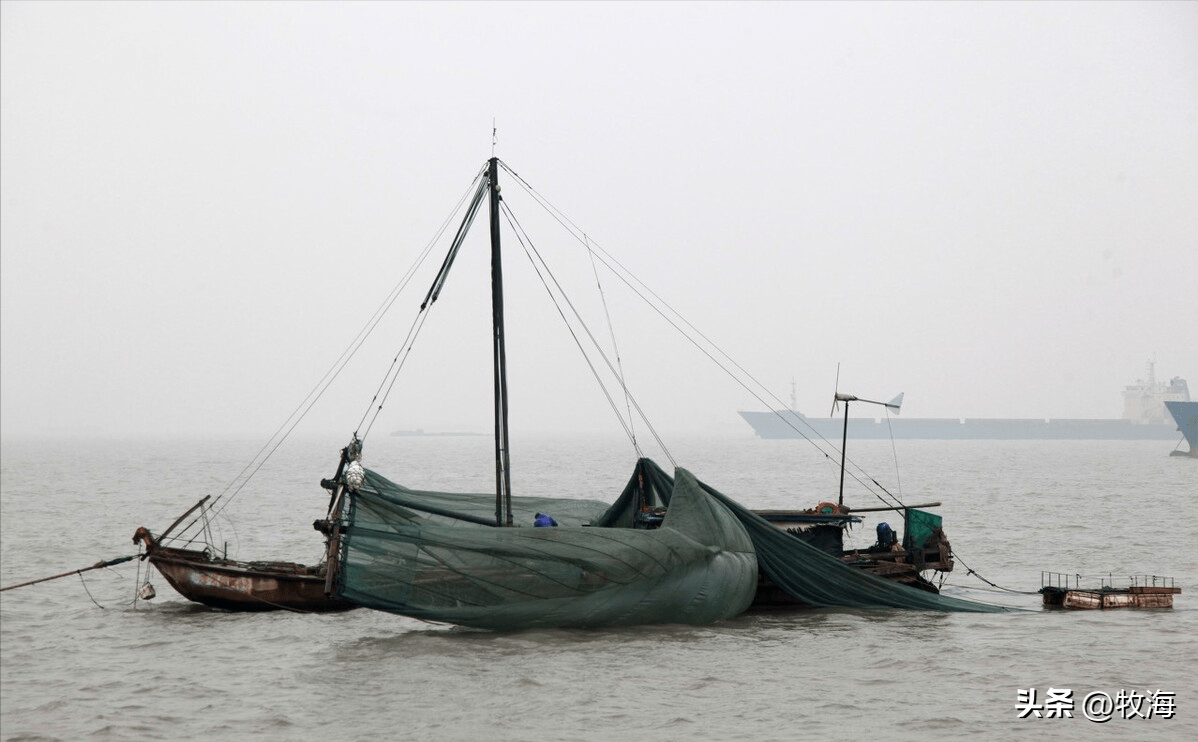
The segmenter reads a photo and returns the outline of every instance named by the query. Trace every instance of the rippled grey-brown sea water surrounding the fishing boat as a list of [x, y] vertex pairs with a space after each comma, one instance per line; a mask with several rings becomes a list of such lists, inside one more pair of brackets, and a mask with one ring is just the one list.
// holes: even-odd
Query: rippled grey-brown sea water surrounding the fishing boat
[[[320, 557], [341, 440], [280, 451], [230, 506], [241, 559]], [[379, 439], [367, 464], [430, 489], [488, 490], [486, 439]], [[1023, 740], [1198, 738], [1198, 462], [1158, 441], [900, 441], [908, 502], [940, 500], [958, 556], [1004, 587], [1042, 569], [1173, 575], [1158, 611], [1047, 613], [958, 569], [946, 591], [1031, 610], [807, 610], [710, 627], [492, 634], [358, 610], [241, 615], [187, 603], [138, 562], [0, 593], [0, 737], [16, 740]], [[0, 584], [133, 554], [219, 491], [252, 441], [4, 440]], [[679, 464], [750, 507], [835, 497], [803, 441], [696, 440]], [[889, 442], [852, 453], [898, 487]], [[513, 452], [518, 494], [611, 499], [618, 441]], [[661, 458], [662, 465], [668, 463]], [[860, 490], [846, 501], [865, 507]], [[872, 541], [872, 521], [858, 531]], [[144, 578], [144, 572], [140, 573]], [[90, 596], [90, 597], [89, 597]], [[95, 599], [95, 603], [92, 602]], [[96, 605], [98, 603], [103, 608]], [[1069, 688], [1073, 718], [1018, 718], [1018, 689]], [[1162, 690], [1174, 718], [1087, 720], [1083, 696]]]

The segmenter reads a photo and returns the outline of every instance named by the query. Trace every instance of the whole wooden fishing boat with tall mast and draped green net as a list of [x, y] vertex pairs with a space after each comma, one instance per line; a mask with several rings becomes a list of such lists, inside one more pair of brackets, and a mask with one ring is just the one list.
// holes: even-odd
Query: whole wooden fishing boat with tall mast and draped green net
[[[793, 519], [782, 523], [786, 519], [780, 520], [776, 513], [745, 508], [673, 463], [672, 457], [673, 472], [667, 473], [641, 453], [630, 421], [623, 417], [610, 393], [609, 403], [637, 454], [627, 485], [618, 494], [612, 493], [616, 495], [612, 500], [514, 495], [501, 212], [509, 224], [519, 222], [506, 211], [506, 200], [500, 197], [501, 168], [533, 193], [495, 157], [476, 175], [473, 195], [462, 201], [465, 213], [460, 227], [420, 303], [404, 340], [405, 348], [395, 356], [380, 392], [370, 402], [373, 417], [370, 412], [363, 417], [341, 448], [335, 475], [321, 482], [329, 502], [325, 517], [314, 523], [325, 538], [321, 563], [308, 567], [295, 562], [240, 562], [228, 559], [211, 539], [202, 548], [193, 547], [194, 535], [187, 539], [180, 536], [189, 529], [205, 531], [212, 514], [205, 497], [162, 533], [153, 535], [143, 527], [134, 536], [145, 548], [143, 559], [155, 565], [180, 593], [228, 610], [323, 611], [365, 607], [425, 621], [501, 631], [710, 623], [745, 611], [755, 599], [761, 599], [762, 585], [769, 585], [795, 605], [1000, 610], [945, 597], [934, 587], [928, 589], [930, 584], [919, 584], [919, 573], [931, 562], [946, 562], [949, 554], [938, 521], [925, 529], [925, 538], [918, 543], [909, 539], [919, 532], [914, 521], [920, 511], [901, 502], [895, 507], [903, 511], [908, 525], [902, 549], [885, 542], [865, 555], [836, 553], [827, 544], [812, 543], [804, 533], [847, 525], [854, 518], [840, 518], [847, 514], [847, 508], [819, 513], [824, 523], [804, 529], [795, 526]], [[410, 488], [363, 465], [365, 438], [387, 394], [395, 387], [404, 367], [400, 358], [406, 358], [428, 313], [437, 304], [484, 201], [491, 252], [489, 386], [494, 390], [495, 491]], [[564, 221], [553, 216], [558, 223]], [[514, 229], [526, 245], [522, 227]], [[549, 272], [547, 267], [545, 271]], [[556, 284], [556, 278], [546, 282], [541, 276], [541, 280], [546, 289]], [[561, 303], [558, 310], [564, 319]], [[579, 334], [575, 333], [576, 342]], [[345, 362], [349, 356], [352, 354], [343, 356]], [[607, 356], [603, 360], [624, 393], [629, 418], [635, 409], [649, 426], [618, 364], [613, 366]], [[331, 373], [326, 379], [337, 375]], [[309, 399], [320, 397], [321, 393], [313, 393]], [[855, 400], [846, 398], [846, 405], [849, 399]], [[291, 428], [284, 424], [283, 429]], [[654, 438], [661, 442], [655, 432]], [[264, 451], [274, 447], [268, 445]], [[842, 452], [837, 507], [843, 507], [845, 466]], [[248, 469], [256, 471], [258, 466]], [[188, 518], [192, 521], [180, 527]], [[920, 561], [922, 557], [916, 556], [932, 553], [938, 562]]]

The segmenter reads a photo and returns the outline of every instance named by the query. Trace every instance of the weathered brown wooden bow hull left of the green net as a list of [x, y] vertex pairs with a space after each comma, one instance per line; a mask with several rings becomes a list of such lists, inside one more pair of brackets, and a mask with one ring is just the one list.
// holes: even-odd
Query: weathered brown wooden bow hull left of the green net
[[237, 562], [204, 551], [159, 547], [150, 562], [188, 601], [232, 611], [350, 610], [353, 604], [325, 595], [325, 567], [295, 562]]

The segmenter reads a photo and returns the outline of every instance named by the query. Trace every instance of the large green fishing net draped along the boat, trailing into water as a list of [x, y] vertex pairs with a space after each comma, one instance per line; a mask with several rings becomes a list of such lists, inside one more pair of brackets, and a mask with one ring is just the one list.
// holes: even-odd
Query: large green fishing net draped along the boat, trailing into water
[[[367, 471], [350, 496], [338, 592], [379, 610], [489, 629], [709, 623], [746, 610], [758, 568], [815, 607], [992, 611], [915, 590], [801, 542], [684, 469], [641, 459], [611, 505], [412, 490]], [[556, 527], [533, 527], [539, 515]]]

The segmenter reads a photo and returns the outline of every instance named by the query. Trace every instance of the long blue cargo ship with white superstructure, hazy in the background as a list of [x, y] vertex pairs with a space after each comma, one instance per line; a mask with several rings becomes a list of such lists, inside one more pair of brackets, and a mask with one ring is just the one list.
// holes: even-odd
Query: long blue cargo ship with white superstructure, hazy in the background
[[[1124, 388], [1120, 418], [986, 418], [986, 417], [849, 417], [848, 438], [928, 440], [1176, 440], [1181, 421], [1174, 421], [1166, 403], [1190, 403], [1185, 379], [1156, 381], [1155, 363], [1148, 364], [1148, 379]], [[1193, 403], [1198, 406], [1198, 403]], [[793, 408], [793, 403], [792, 403]], [[793, 409], [740, 411], [758, 438], [823, 438], [840, 440], [845, 421], [807, 417]], [[1198, 450], [1194, 439], [1191, 451]], [[1194, 454], [1198, 456], [1198, 454]]]

